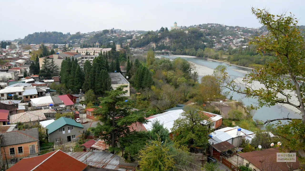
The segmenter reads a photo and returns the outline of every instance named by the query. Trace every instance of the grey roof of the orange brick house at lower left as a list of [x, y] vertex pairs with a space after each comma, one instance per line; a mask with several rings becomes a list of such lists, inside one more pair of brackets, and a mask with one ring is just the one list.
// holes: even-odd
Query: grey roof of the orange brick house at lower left
[[1, 146], [22, 144], [27, 142], [39, 141], [38, 128], [4, 132], [2, 134]]

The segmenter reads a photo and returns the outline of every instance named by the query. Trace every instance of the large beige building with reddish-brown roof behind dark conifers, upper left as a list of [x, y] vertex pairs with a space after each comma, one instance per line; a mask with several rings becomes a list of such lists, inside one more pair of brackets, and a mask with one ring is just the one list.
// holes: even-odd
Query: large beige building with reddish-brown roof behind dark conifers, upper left
[[[62, 52], [62, 53], [56, 53], [56, 54], [53, 54], [53, 55], [49, 55], [49, 56], [45, 56], [45, 57], [42, 57], [42, 58], [39, 58], [39, 66], [41, 68], [42, 64], [43, 64], [43, 60], [44, 58], [47, 58], [50, 62], [51, 60], [53, 59], [54, 63], [57, 64], [59, 67], [61, 66], [61, 63], [62, 61], [65, 59], [65, 58], [71, 58], [72, 57], [74, 59], [77, 60], [77, 63], [79, 65], [81, 65], [81, 54], [79, 53], [75, 53], [75, 52]], [[60, 70], [60, 68], [59, 68]]]

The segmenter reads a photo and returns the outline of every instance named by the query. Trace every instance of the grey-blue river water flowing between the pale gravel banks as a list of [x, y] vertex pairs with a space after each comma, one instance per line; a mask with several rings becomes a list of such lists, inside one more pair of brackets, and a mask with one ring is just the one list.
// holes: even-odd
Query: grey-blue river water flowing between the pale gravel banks
[[[164, 56], [164, 57], [169, 58], [169, 59], [177, 58], [176, 56]], [[199, 65], [203, 65], [205, 67], [209, 67], [211, 69], [215, 69], [218, 65], [227, 65], [228, 66], [227, 63], [210, 61], [210, 60], [206, 60], [204, 58], [187, 58], [187, 57], [181, 57], [181, 58], [183, 58], [187, 61], [199, 64]], [[227, 70], [227, 72], [231, 78], [238, 78], [238, 77], [244, 76], [244, 74], [234, 71], [232, 69], [251, 71], [251, 69], [248, 69], [248, 68], [231, 65], [228, 67], [228, 70]], [[201, 77], [202, 76], [199, 77], [199, 80]], [[229, 91], [229, 90], [225, 90], [225, 91]], [[244, 95], [238, 94], [238, 93], [235, 93], [232, 91], [230, 92], [230, 95], [228, 97], [230, 97], [231, 95], [233, 95], [234, 100], [242, 101], [246, 106], [251, 105], [251, 104], [253, 106], [257, 106], [257, 100], [254, 98], [246, 98], [246, 97], [244, 97]], [[272, 119], [278, 119], [278, 118], [287, 118], [288, 114], [289, 114], [289, 118], [301, 118], [300, 114], [296, 114], [293, 111], [290, 111], [284, 107], [281, 107], [280, 105], [275, 105], [275, 106], [271, 106], [271, 107], [264, 106], [264, 107], [258, 109], [256, 114], [254, 115], [253, 119], [266, 121], [266, 120], [272, 120]], [[273, 123], [275, 124], [277, 122], [273, 122]], [[282, 121], [282, 123], [286, 123], [286, 121]]]

